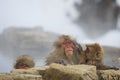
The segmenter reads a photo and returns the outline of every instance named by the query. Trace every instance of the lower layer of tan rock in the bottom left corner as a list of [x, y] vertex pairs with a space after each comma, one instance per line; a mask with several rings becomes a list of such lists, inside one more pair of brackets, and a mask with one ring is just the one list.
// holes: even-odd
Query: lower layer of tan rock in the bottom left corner
[[40, 75], [1, 73], [0, 80], [42, 80]]

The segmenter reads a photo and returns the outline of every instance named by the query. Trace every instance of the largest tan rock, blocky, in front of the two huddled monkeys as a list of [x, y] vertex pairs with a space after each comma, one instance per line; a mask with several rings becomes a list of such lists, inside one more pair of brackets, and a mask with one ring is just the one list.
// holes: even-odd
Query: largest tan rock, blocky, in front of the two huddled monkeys
[[44, 78], [45, 80], [98, 80], [96, 67], [89, 65], [51, 64]]

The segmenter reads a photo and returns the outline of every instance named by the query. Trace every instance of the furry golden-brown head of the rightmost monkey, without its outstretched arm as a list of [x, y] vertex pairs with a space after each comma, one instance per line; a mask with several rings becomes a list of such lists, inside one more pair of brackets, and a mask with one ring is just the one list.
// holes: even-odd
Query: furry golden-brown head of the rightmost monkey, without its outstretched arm
[[103, 48], [98, 44], [87, 44], [88, 52], [86, 51], [86, 64], [102, 65], [104, 51]]

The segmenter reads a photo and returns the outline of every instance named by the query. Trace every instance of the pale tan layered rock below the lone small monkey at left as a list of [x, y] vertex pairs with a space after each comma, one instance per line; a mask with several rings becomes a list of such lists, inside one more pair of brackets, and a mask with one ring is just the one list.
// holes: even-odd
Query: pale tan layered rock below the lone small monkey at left
[[49, 66], [40, 66], [29, 69], [13, 69], [11, 73], [1, 73], [0, 80], [42, 80]]

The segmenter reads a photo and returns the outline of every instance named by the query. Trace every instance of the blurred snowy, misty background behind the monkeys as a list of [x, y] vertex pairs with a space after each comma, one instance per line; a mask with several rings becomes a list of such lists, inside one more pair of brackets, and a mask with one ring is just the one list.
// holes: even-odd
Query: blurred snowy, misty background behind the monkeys
[[61, 34], [100, 43], [105, 64], [120, 67], [120, 0], [0, 0], [0, 72], [22, 54], [44, 65]]

